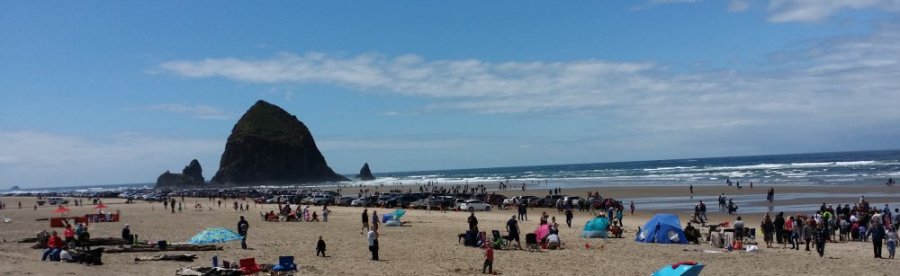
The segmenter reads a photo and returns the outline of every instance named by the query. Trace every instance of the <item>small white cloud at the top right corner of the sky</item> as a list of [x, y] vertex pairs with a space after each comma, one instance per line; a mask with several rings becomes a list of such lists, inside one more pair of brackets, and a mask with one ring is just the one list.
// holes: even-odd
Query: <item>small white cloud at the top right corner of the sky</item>
[[900, 0], [770, 0], [771, 22], [816, 22], [842, 10], [900, 11]]

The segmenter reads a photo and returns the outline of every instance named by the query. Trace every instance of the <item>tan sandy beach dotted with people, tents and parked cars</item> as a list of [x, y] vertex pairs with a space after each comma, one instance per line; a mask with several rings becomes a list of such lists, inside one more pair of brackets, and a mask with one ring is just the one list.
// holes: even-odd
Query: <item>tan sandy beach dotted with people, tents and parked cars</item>
[[[382, 187], [386, 190], [387, 187]], [[346, 188], [345, 192], [352, 189]], [[687, 187], [615, 187], [580, 190], [564, 190], [565, 194], [584, 196], [587, 190], [599, 190], [604, 196], [612, 197], [662, 197], [687, 195]], [[754, 190], [742, 189], [743, 193], [760, 193], [764, 196], [765, 188]], [[721, 192], [735, 194], [735, 189], [727, 187], [695, 187], [695, 194], [717, 195]], [[509, 195], [518, 195], [521, 190], [502, 191]], [[532, 189], [535, 195], [545, 195], [546, 190], [537, 187]], [[891, 192], [878, 186], [865, 187], [832, 187], [801, 186], [777, 187], [776, 192], [822, 192], [846, 195], [846, 200], [858, 198], [856, 194]], [[841, 200], [844, 200], [843, 197]], [[833, 198], [829, 198], [830, 200]], [[49, 229], [49, 222], [35, 221], [36, 218], [55, 216], [51, 213], [54, 207], [41, 206], [32, 210], [34, 198], [2, 198], [8, 209], [0, 210], [0, 215], [11, 218], [11, 223], [0, 225], [0, 275], [174, 275], [179, 267], [209, 266], [211, 258], [218, 255], [220, 260], [237, 261], [240, 258], [256, 258], [258, 263], [275, 263], [278, 256], [296, 256], [296, 263], [301, 267], [300, 275], [472, 275], [481, 273], [484, 260], [482, 250], [464, 247], [458, 244], [457, 235], [467, 229], [466, 212], [430, 214], [424, 210], [408, 210], [403, 218], [408, 221], [403, 227], [387, 227], [382, 225], [380, 235], [380, 257], [382, 261], [370, 261], [365, 235], [360, 233], [360, 214], [362, 208], [330, 207], [332, 213], [329, 222], [263, 222], [260, 212], [275, 209], [275, 205], [256, 205], [251, 203], [248, 212], [236, 212], [229, 204], [222, 208], [213, 206], [207, 199], [187, 198], [185, 207], [194, 202], [204, 205], [202, 211], [192, 207], [185, 208], [183, 213], [170, 214], [163, 209], [161, 203], [138, 202], [124, 204], [122, 200], [105, 199], [111, 211], [120, 211], [122, 220], [116, 223], [94, 223], [90, 226], [92, 237], [119, 237], [124, 224], [130, 224], [132, 232], [141, 240], [167, 240], [171, 242], [186, 241], [197, 232], [207, 227], [235, 228], [239, 216], [246, 216], [250, 222], [248, 245], [250, 250], [240, 249], [240, 242], [223, 244], [225, 250], [212, 252], [189, 252], [199, 256], [193, 263], [181, 262], [135, 262], [139, 256], [151, 256], [154, 253], [120, 253], [104, 254], [102, 266], [85, 266], [71, 263], [41, 262], [41, 251], [30, 249], [30, 244], [16, 241], [33, 237], [41, 229]], [[896, 198], [894, 198], [896, 201]], [[21, 201], [23, 209], [17, 209]], [[841, 201], [844, 202], [844, 201]], [[878, 203], [879, 201], [873, 201]], [[777, 205], [778, 202], [776, 202]], [[626, 203], [627, 204], [627, 203]], [[714, 203], [713, 203], [714, 204]], [[896, 204], [892, 204], [894, 207]], [[208, 207], [213, 206], [210, 210]], [[93, 206], [72, 208], [72, 215], [89, 213]], [[710, 208], [713, 222], [732, 221], [733, 216]], [[321, 211], [321, 207], [311, 207]], [[393, 209], [370, 208], [379, 214]], [[776, 207], [777, 210], [777, 207]], [[530, 220], [520, 222], [523, 232], [530, 232], [537, 227], [538, 217], [542, 211], [556, 216], [561, 224], [560, 235], [566, 243], [564, 250], [544, 251], [541, 253], [527, 251], [496, 250], [494, 269], [505, 275], [649, 275], [666, 264], [678, 261], [697, 261], [706, 264], [703, 275], [896, 275], [900, 271], [900, 260], [881, 260], [872, 258], [872, 244], [863, 242], [829, 243], [824, 258], [815, 251], [794, 251], [787, 249], [768, 249], [762, 245], [759, 252], [725, 252], [706, 244], [700, 245], [660, 245], [642, 244], [633, 241], [638, 226], [642, 226], [654, 213], [661, 210], [642, 210], [640, 205], [634, 215], [626, 213], [626, 226], [623, 239], [585, 239], [580, 237], [581, 228], [591, 217], [586, 212], [575, 212], [572, 228], [565, 226], [565, 219], [555, 209], [530, 209]], [[492, 210], [477, 212], [479, 227], [482, 230], [504, 229], [505, 222], [512, 216], [512, 210]], [[688, 216], [679, 214], [682, 223]], [[742, 214], [749, 227], [756, 227], [761, 216], [759, 214]], [[61, 229], [57, 229], [60, 230]], [[328, 244], [329, 257], [315, 256], [315, 244], [318, 236], [323, 236]], [[760, 238], [761, 240], [761, 238]], [[524, 234], [523, 234], [524, 241]], [[585, 249], [585, 244], [590, 249]], [[885, 256], [887, 255], [885, 248]], [[178, 252], [169, 252], [178, 253]]]

